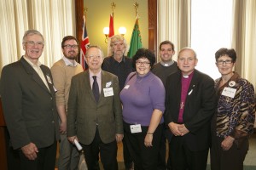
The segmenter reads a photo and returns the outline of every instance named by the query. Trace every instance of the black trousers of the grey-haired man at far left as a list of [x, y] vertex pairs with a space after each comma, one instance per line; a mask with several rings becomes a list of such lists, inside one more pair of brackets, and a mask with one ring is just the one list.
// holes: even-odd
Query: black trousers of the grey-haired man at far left
[[38, 157], [35, 160], [28, 160], [20, 150], [20, 170], [54, 170], [56, 159], [57, 143], [45, 148], [38, 148]]

